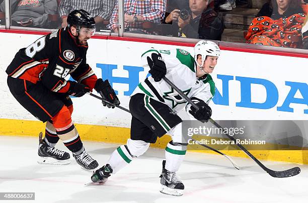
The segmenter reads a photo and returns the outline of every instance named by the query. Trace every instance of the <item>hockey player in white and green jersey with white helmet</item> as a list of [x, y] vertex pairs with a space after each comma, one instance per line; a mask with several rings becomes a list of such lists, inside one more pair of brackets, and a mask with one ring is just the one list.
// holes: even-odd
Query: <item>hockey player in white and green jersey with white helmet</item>
[[[139, 83], [131, 95], [130, 139], [111, 154], [105, 166], [93, 173], [92, 181], [105, 182], [111, 174], [141, 156], [150, 143], [168, 134], [172, 141], [165, 150], [160, 191], [176, 196], [183, 194], [184, 184], [176, 172], [184, 159], [189, 137], [182, 134], [182, 119], [177, 113], [186, 108], [186, 112], [199, 121], [211, 117], [211, 108], [207, 104], [214, 95], [215, 84], [209, 73], [217, 64], [220, 49], [214, 42], [203, 40], [195, 45], [194, 52], [192, 57], [182, 49], [152, 48], [142, 54], [142, 65], [150, 68], [151, 76]], [[190, 97], [199, 110], [166, 83], [162, 79], [164, 76]]]

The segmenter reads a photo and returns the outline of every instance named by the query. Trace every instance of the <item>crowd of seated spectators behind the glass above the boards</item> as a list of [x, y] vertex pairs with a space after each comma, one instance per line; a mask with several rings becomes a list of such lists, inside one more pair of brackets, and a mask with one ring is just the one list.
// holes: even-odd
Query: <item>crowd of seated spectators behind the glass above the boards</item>
[[[221, 40], [223, 16], [245, 4], [247, 0], [124, 0], [124, 32]], [[10, 9], [11, 26], [66, 27], [68, 13], [84, 9], [95, 18], [98, 31], [119, 31], [118, 0], [11, 0]], [[268, 0], [256, 11], [243, 31], [247, 43], [308, 48], [308, 0]]]

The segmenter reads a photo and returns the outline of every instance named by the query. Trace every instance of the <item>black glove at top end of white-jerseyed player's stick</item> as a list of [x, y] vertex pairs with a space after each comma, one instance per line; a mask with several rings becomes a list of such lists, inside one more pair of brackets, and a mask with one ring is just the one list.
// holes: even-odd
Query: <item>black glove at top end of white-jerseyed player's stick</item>
[[152, 75], [154, 81], [159, 82], [167, 73], [166, 64], [161, 54], [152, 53], [151, 57], [146, 57], [147, 64], [150, 67], [148, 72]]

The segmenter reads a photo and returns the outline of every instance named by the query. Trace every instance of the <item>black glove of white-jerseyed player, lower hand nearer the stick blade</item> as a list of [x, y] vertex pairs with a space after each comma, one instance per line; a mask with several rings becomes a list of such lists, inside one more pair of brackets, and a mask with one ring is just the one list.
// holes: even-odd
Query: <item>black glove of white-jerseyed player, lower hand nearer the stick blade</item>
[[193, 106], [191, 106], [190, 111], [188, 112], [198, 121], [208, 122], [212, 116], [211, 108], [199, 98], [191, 97], [191, 100], [199, 107], [199, 109], [196, 110]]

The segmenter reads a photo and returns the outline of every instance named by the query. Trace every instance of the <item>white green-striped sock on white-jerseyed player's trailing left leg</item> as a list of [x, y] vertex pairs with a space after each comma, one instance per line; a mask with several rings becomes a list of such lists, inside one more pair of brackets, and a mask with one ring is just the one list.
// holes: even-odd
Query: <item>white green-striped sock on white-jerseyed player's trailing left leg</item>
[[112, 174], [115, 174], [124, 166], [128, 165], [132, 161], [132, 157], [125, 148], [124, 145], [121, 145], [116, 150], [113, 151], [107, 163], [112, 167]]

